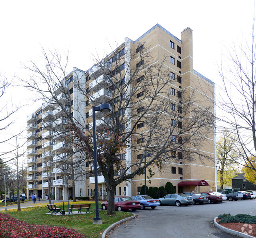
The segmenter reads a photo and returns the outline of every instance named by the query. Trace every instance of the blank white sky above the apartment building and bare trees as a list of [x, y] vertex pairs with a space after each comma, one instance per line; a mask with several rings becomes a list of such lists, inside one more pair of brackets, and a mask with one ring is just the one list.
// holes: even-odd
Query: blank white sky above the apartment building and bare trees
[[[234, 42], [250, 40], [253, 15], [253, 0], [1, 1], [0, 74], [25, 77], [21, 63], [41, 60], [41, 46], [69, 49], [68, 72], [73, 66], [87, 70], [96, 52], [103, 57], [104, 51], [111, 52], [109, 45], [115, 48], [125, 37], [136, 40], [158, 23], [178, 38], [190, 27], [193, 68], [220, 84], [217, 65], [222, 54]], [[24, 92], [9, 90], [15, 104], [33, 97]], [[24, 126], [39, 106], [29, 104], [19, 113]]]

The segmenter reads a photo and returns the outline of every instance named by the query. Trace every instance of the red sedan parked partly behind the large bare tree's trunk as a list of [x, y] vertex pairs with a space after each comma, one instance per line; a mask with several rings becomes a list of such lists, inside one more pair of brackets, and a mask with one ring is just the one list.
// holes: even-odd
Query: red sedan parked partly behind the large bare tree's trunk
[[[108, 209], [108, 201], [104, 201], [101, 203], [101, 207], [103, 210]], [[119, 212], [122, 210], [132, 209], [135, 211], [136, 209], [140, 209], [141, 204], [139, 201], [133, 200], [131, 197], [128, 196], [119, 196], [115, 197], [115, 209]]]

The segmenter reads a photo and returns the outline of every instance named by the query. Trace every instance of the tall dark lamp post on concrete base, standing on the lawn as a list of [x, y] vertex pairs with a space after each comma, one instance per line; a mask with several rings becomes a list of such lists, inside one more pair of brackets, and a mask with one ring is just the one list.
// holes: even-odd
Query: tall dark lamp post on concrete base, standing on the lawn
[[96, 217], [93, 218], [93, 224], [102, 224], [102, 219], [99, 217], [98, 207], [98, 173], [97, 173], [97, 146], [96, 146], [96, 120], [95, 112], [100, 111], [108, 113], [111, 111], [109, 103], [102, 103], [99, 106], [93, 106], [93, 158], [94, 158], [94, 182], [95, 182], [95, 206], [96, 206]]

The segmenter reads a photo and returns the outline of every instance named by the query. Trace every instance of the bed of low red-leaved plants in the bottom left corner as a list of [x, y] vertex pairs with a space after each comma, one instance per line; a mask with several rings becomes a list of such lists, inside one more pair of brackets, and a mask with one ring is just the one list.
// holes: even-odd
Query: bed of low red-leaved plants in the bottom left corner
[[85, 238], [75, 229], [28, 224], [10, 215], [0, 214], [0, 238]]

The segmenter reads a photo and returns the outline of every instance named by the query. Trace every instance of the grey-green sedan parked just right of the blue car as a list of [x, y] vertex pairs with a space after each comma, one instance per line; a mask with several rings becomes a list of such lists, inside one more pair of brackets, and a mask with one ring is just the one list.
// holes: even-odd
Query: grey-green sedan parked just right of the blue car
[[158, 198], [160, 201], [160, 205], [189, 205], [193, 203], [193, 199], [191, 196], [187, 196], [185, 194], [168, 194], [165, 195], [163, 198]]

